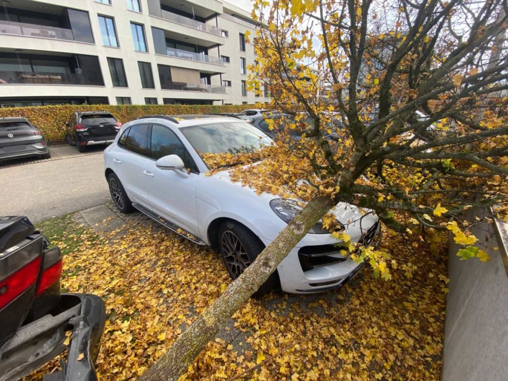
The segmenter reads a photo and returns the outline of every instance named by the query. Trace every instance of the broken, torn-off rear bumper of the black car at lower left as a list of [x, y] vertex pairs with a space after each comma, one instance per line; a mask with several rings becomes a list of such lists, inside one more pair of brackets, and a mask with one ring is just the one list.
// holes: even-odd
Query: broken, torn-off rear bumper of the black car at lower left
[[0, 350], [0, 381], [17, 380], [66, 349], [66, 331], [72, 327], [69, 354], [63, 370], [45, 380], [94, 381], [94, 362], [106, 322], [103, 300], [96, 295], [62, 294], [52, 314], [22, 326]]

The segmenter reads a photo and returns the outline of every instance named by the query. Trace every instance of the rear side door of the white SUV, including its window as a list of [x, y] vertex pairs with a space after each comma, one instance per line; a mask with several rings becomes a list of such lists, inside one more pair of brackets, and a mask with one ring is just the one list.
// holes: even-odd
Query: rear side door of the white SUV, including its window
[[134, 124], [118, 140], [117, 147], [110, 151], [113, 171], [116, 173], [127, 195], [133, 202], [149, 208], [149, 174], [145, 173], [148, 156], [148, 123]]

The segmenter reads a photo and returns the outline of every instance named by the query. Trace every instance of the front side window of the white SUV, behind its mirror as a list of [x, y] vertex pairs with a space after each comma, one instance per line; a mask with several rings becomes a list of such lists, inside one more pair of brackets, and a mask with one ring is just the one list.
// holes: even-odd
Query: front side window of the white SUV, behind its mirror
[[185, 164], [185, 168], [195, 172], [198, 170], [193, 158], [190, 157], [180, 139], [173, 131], [163, 125], [152, 124], [150, 151], [150, 157], [155, 160], [167, 155], [178, 155]]

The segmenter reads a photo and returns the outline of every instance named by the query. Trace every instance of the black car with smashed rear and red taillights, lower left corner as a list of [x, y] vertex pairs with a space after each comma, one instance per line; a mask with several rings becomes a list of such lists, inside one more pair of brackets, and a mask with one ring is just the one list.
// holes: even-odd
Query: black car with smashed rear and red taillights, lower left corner
[[61, 354], [66, 332], [72, 332], [67, 362], [51, 380], [97, 380], [104, 302], [60, 295], [62, 256], [48, 245], [28, 218], [0, 217], [0, 381], [20, 379]]

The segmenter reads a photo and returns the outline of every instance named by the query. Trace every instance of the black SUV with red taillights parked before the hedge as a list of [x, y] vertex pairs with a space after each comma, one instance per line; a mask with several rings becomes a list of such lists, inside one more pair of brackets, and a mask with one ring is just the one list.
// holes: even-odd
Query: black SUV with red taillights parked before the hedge
[[66, 123], [66, 140], [85, 152], [90, 145], [110, 144], [121, 125], [107, 111], [76, 111]]

